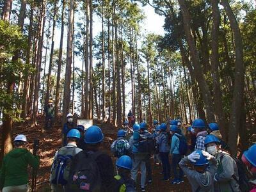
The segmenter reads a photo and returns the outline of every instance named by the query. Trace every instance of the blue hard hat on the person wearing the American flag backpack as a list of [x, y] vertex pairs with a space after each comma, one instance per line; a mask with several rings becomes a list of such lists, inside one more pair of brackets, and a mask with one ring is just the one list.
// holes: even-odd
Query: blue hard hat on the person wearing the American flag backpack
[[84, 143], [89, 143], [89, 144], [100, 143], [103, 140], [103, 138], [104, 138], [104, 135], [100, 127], [96, 125], [92, 125], [85, 132]]

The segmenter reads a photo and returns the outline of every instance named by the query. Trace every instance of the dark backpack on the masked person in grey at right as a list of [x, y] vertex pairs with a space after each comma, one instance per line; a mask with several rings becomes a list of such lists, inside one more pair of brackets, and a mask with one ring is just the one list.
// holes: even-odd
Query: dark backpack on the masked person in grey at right
[[[224, 156], [228, 155], [222, 155], [220, 157], [220, 163]], [[239, 179], [236, 178], [236, 175], [232, 175], [232, 178], [236, 180], [237, 184], [239, 184], [239, 188], [241, 189], [241, 191], [250, 191], [249, 179], [245, 173], [246, 167], [244, 166], [240, 159], [234, 157], [232, 157], [232, 159], [234, 159], [234, 161], [236, 162]]]

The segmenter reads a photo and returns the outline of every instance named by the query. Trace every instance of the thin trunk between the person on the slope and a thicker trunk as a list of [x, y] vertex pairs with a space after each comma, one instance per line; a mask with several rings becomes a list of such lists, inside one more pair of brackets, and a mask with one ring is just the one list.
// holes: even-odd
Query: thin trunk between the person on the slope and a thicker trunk
[[54, 111], [54, 116], [56, 118], [60, 110], [60, 74], [61, 74], [62, 52], [63, 52], [65, 5], [66, 5], [65, 0], [62, 0], [60, 49], [59, 49], [59, 59], [58, 59], [58, 72], [57, 72], [56, 95], [55, 95], [55, 111]]

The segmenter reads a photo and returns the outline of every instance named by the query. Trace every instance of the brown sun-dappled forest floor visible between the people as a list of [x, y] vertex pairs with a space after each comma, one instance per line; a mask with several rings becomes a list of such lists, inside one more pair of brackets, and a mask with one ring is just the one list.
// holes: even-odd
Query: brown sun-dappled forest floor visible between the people
[[[101, 122], [95, 123], [102, 129], [104, 133], [102, 150], [111, 155], [110, 145], [113, 140], [116, 139], [117, 128], [113, 127], [111, 124], [102, 124]], [[51, 164], [56, 150], [61, 147], [61, 124], [58, 123], [55, 125], [51, 132], [42, 132], [42, 127], [44, 127], [43, 118], [38, 120], [38, 127], [30, 127], [29, 122], [15, 125], [13, 130], [13, 137], [18, 133], [25, 134], [28, 137], [29, 148], [31, 151], [33, 148], [33, 140], [40, 140], [40, 147], [38, 151], [40, 156], [40, 168], [37, 173], [36, 191], [46, 192], [51, 191], [49, 186]], [[147, 191], [191, 191], [189, 182], [186, 180], [186, 177], [184, 183], [173, 185], [170, 184], [170, 182], [163, 182], [161, 180], [163, 175], [160, 173], [161, 166], [154, 166], [152, 163], [153, 182], [147, 186]]]

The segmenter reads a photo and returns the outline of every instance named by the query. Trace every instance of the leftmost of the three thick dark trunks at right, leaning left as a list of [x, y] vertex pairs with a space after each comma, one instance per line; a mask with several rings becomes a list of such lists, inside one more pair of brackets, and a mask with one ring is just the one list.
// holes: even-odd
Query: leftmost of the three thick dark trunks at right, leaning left
[[185, 0], [179, 0], [180, 9], [182, 11], [182, 18], [184, 23], [184, 30], [186, 39], [188, 41], [189, 50], [191, 52], [191, 59], [193, 61], [193, 67], [195, 68], [195, 76], [198, 81], [198, 86], [202, 92], [202, 97], [205, 103], [205, 109], [207, 111], [207, 120], [209, 122], [213, 122], [214, 118], [214, 110], [211, 101], [211, 93], [209, 90], [209, 86], [207, 85], [204, 74], [202, 73], [202, 68], [200, 67], [200, 60], [198, 56], [198, 52], [196, 51], [196, 44], [191, 35], [191, 17], [189, 15], [188, 8], [186, 6]]

